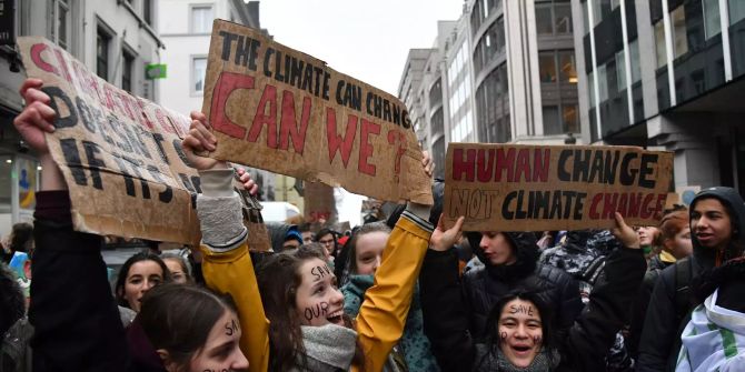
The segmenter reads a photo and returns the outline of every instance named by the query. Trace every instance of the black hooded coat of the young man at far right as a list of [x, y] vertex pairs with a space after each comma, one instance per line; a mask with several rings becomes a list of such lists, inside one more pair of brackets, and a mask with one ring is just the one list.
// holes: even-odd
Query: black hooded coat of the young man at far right
[[[718, 199], [733, 214], [731, 215], [733, 228], [733, 243], [724, 252], [724, 261], [728, 258], [742, 254], [739, 247], [745, 244], [745, 204], [737, 191], [731, 188], [709, 188], [702, 190], [691, 202], [691, 211], [696, 202], [705, 198]], [[693, 219], [692, 219], [693, 220]], [[703, 271], [711, 270], [716, 264], [716, 252], [701, 245], [691, 229], [693, 243], [693, 257], [678, 260], [662, 271], [657, 279], [649, 306], [644, 321], [644, 331], [639, 341], [639, 358], [636, 371], [665, 371], [674, 370], [675, 359], [681, 346], [681, 331], [687, 323], [687, 314], [697, 305], [688, 293], [691, 281], [678, 273], [687, 271], [688, 279], [698, 277]], [[737, 247], [739, 245], [739, 247]], [[683, 268], [681, 268], [683, 265]], [[679, 305], [681, 303], [685, 305]]]

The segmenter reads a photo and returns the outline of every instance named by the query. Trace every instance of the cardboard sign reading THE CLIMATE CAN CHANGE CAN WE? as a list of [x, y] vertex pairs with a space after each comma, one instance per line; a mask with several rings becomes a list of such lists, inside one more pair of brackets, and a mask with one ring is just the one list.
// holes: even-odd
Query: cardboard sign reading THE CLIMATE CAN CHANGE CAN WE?
[[211, 158], [431, 203], [404, 103], [259, 30], [215, 21], [202, 112], [219, 143]]

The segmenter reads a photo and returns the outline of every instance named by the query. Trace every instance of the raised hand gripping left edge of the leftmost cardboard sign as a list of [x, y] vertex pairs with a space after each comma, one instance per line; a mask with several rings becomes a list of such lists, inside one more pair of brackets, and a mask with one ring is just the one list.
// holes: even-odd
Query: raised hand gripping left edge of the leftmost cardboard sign
[[26, 101], [23, 111], [16, 117], [13, 125], [39, 155], [49, 153], [44, 132], [54, 131], [53, 121], [57, 117], [54, 110], [49, 107], [51, 99], [40, 90], [43, 82], [39, 79], [26, 79], [21, 86], [20, 93]]

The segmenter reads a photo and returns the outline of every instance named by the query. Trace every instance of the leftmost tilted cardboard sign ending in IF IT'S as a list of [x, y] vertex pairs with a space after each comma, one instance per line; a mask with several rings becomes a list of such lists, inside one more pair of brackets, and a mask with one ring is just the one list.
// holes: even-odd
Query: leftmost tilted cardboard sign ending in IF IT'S
[[181, 149], [190, 120], [108, 83], [49, 40], [18, 44], [58, 114], [47, 143], [70, 190], [74, 229], [197, 243], [199, 178]]

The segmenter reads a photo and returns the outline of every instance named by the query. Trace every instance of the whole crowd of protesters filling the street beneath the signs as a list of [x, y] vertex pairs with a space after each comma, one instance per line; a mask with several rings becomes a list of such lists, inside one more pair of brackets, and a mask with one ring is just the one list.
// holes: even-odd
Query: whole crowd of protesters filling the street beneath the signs
[[268, 223], [259, 253], [234, 172], [257, 185], [195, 154], [218, 143], [192, 112], [182, 147], [201, 179], [201, 245], [137, 253], [111, 285], [103, 237], [72, 229], [41, 86], [23, 83], [14, 121], [43, 170], [33, 225], [2, 249], [0, 372], [745, 370], [733, 189], [703, 190], [656, 227], [616, 213], [610, 230], [463, 232], [464, 218], [440, 219], [435, 181], [433, 205], [352, 231]]

